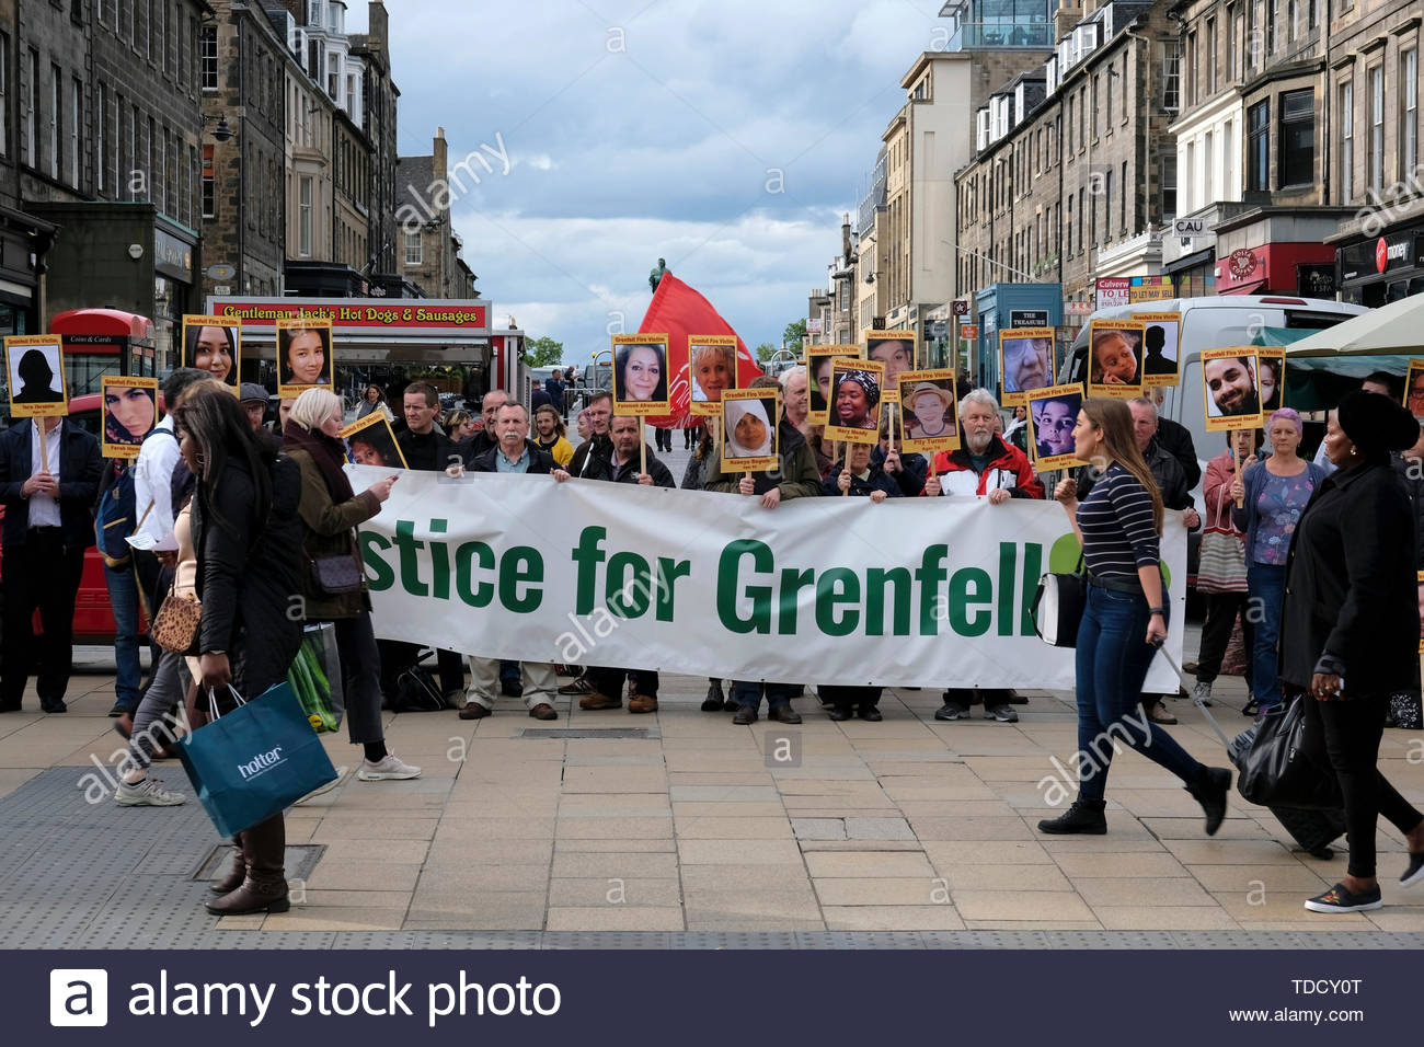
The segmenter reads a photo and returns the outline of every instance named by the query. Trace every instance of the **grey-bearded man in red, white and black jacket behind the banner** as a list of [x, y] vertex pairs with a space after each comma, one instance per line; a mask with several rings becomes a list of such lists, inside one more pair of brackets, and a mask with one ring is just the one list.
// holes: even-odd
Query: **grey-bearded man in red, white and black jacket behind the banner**
[[[931, 476], [924, 483], [928, 497], [984, 497], [991, 506], [1044, 497], [1028, 456], [995, 434], [995, 420], [998, 400], [987, 389], [974, 389], [960, 402], [960, 449], [934, 456]], [[1017, 724], [1018, 714], [1010, 708], [1012, 697], [1008, 688], [951, 687], [934, 718], [968, 719], [970, 707], [983, 701], [985, 719]]]

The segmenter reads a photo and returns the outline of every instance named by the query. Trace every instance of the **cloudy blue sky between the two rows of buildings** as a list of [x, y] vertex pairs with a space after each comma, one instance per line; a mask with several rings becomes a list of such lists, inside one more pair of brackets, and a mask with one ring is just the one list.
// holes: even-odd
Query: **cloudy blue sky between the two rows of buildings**
[[[826, 279], [900, 77], [941, 0], [387, 0], [400, 152], [478, 185], [453, 205], [496, 316], [568, 363], [637, 330], [648, 271], [706, 295], [749, 346]], [[365, 4], [350, 0], [349, 31]], [[507, 154], [508, 174], [491, 152]], [[779, 191], [778, 191], [779, 189]]]

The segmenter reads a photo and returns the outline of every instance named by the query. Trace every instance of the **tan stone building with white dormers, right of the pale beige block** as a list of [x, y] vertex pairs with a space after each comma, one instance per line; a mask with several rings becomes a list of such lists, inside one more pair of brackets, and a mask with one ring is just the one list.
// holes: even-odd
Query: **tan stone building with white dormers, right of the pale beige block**
[[1057, 282], [1091, 303], [1098, 276], [1161, 271], [1175, 211], [1176, 37], [1165, 4], [1114, 3], [1069, 34], [1075, 47], [994, 91], [975, 114], [975, 154], [956, 178], [961, 296], [1000, 282]]

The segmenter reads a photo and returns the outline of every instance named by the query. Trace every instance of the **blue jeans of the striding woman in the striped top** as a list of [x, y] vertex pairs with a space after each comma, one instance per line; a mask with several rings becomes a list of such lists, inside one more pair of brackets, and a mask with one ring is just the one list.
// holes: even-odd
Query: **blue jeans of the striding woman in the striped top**
[[1114, 739], [1166, 768], [1188, 785], [1202, 771], [1172, 735], [1142, 711], [1142, 682], [1156, 648], [1145, 642], [1148, 601], [1141, 593], [1088, 587], [1078, 627], [1078, 795], [1101, 801]]

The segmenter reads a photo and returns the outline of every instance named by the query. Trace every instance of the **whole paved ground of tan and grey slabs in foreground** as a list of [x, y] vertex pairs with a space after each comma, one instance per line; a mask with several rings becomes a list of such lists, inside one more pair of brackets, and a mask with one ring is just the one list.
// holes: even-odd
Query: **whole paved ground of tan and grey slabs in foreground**
[[[424, 776], [347, 773], [293, 808], [292, 910], [219, 920], [201, 903], [224, 842], [201, 806], [114, 805], [112, 678], [107, 652], [81, 654], [68, 714], [38, 714], [31, 689], [0, 717], [4, 947], [1424, 944], [1424, 890], [1391, 885], [1404, 848], [1387, 825], [1387, 905], [1350, 916], [1302, 909], [1343, 853], [1294, 850], [1235, 795], [1208, 839], [1179, 783], [1131, 752], [1114, 762], [1106, 836], [1038, 833], [1052, 759], [1074, 748], [1069, 695], [1028, 692], [1018, 724], [941, 724], [937, 692], [890, 689], [883, 724], [834, 724], [807, 694], [799, 726], [735, 726], [699, 711], [705, 681], [675, 675], [649, 715], [567, 699], [553, 724], [518, 701], [473, 724], [389, 715], [392, 748]], [[1246, 725], [1239, 679], [1216, 698], [1227, 731]], [[1172, 735], [1223, 762], [1199, 712], [1171, 705]], [[782, 766], [775, 741], [792, 735], [799, 764]], [[359, 762], [345, 735], [323, 742]], [[1386, 732], [1381, 769], [1424, 802], [1417, 748], [1417, 732]], [[157, 773], [191, 791], [177, 764]]]

